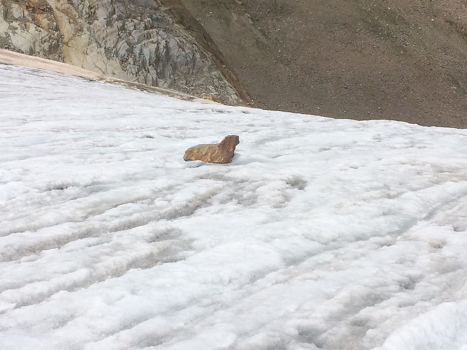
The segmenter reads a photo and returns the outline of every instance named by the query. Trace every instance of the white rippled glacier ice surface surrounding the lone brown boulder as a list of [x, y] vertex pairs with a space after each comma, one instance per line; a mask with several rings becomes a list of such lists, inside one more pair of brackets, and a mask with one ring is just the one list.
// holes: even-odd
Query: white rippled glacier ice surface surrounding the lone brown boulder
[[0, 105], [0, 349], [465, 349], [466, 131], [14, 66]]

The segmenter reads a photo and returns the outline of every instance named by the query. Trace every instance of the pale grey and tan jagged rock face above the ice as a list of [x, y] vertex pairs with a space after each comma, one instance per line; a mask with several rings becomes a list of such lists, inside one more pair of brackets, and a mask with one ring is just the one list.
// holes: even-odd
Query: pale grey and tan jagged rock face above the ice
[[169, 10], [154, 0], [0, 0], [0, 48], [241, 104], [248, 93]]

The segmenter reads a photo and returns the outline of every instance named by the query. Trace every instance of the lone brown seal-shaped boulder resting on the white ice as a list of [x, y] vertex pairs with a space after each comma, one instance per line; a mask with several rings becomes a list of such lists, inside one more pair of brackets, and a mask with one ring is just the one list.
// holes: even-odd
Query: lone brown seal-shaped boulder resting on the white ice
[[240, 143], [238, 135], [228, 135], [220, 143], [198, 145], [188, 148], [185, 161], [205, 161], [208, 163], [227, 164], [232, 161], [235, 146]]

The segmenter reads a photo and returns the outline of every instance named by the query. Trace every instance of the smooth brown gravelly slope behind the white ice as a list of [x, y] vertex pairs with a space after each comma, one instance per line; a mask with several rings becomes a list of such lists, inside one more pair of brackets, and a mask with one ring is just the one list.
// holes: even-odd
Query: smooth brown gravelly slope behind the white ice
[[465, 0], [182, 0], [265, 108], [467, 127]]

